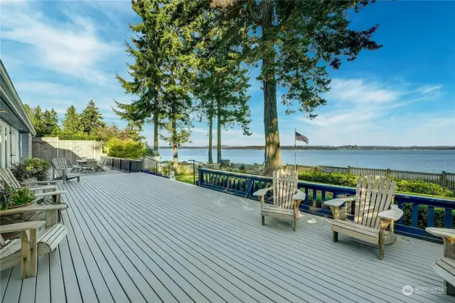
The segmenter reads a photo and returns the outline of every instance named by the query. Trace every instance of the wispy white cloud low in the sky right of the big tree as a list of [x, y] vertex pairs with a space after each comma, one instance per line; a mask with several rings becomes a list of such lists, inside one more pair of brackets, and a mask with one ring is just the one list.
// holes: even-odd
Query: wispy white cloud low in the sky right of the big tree
[[406, 106], [439, 96], [441, 85], [399, 90], [359, 79], [334, 79], [332, 83], [326, 98], [333, 107], [314, 120], [302, 119], [309, 125], [306, 135], [313, 145], [455, 144], [455, 134], [447, 132], [455, 126], [454, 113], [444, 112], [431, 119], [403, 114]]

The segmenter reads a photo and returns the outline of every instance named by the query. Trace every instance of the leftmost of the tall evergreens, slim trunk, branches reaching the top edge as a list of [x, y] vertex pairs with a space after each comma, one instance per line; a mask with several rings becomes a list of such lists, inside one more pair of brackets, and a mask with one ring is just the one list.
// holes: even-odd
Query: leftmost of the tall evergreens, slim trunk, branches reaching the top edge
[[129, 24], [134, 36], [132, 44], [125, 41], [127, 54], [134, 58], [134, 64], [128, 64], [128, 73], [132, 80], [125, 80], [116, 75], [126, 93], [138, 95], [132, 103], [116, 102], [119, 110], [115, 110], [123, 119], [144, 124], [154, 124], [154, 151], [158, 154], [158, 138], [162, 97], [161, 81], [163, 65], [168, 56], [166, 46], [165, 4], [164, 0], [132, 0], [133, 11], [141, 18], [137, 24]]

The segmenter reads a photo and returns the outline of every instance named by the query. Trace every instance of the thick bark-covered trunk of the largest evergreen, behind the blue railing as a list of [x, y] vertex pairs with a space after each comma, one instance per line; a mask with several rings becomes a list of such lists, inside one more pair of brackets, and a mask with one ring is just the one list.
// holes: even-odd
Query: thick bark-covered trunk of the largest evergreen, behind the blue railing
[[[262, 37], [272, 27], [273, 0], [262, 1]], [[275, 80], [274, 48], [269, 47], [262, 59], [262, 85], [264, 87], [264, 134], [265, 134], [265, 171], [272, 176], [274, 170], [282, 167], [282, 152], [279, 146], [277, 115], [277, 83]]]

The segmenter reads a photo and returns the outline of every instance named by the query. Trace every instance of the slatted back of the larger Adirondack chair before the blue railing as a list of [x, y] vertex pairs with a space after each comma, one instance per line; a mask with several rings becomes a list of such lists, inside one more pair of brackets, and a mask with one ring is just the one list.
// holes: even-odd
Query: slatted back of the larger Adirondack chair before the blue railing
[[354, 222], [378, 229], [378, 213], [390, 208], [395, 185], [395, 181], [385, 176], [360, 176], [355, 193]]

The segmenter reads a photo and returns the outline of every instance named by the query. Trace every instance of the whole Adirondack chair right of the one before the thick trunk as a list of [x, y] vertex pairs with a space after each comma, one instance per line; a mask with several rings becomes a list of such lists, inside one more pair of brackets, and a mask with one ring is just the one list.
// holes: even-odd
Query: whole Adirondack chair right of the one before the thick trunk
[[[394, 191], [395, 181], [385, 176], [360, 176], [355, 198], [336, 198], [324, 202], [330, 206], [333, 213], [333, 242], [338, 241], [338, 233], [344, 233], [379, 245], [379, 259], [382, 260], [385, 244], [392, 244], [397, 240], [393, 224], [403, 216], [403, 211], [392, 205]], [[346, 220], [352, 201], [355, 201], [354, 221]], [[385, 230], [388, 226], [390, 230]]]

